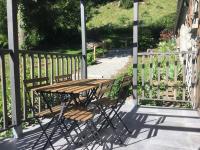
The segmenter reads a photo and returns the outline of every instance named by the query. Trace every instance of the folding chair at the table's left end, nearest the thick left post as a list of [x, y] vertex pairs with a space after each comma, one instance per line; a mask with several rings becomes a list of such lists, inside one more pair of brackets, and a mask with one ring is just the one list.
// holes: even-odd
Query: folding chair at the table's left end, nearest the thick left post
[[[42, 133], [40, 134], [39, 138], [32, 146], [32, 149], [34, 149], [34, 147], [36, 146], [36, 144], [39, 142], [39, 140], [42, 138], [43, 135], [45, 135], [47, 142], [50, 144], [51, 148], [54, 149], [53, 144], [50, 141], [50, 138], [47, 135], [46, 131], [50, 127], [52, 122], [54, 120], [56, 120], [56, 116], [58, 116], [58, 114], [60, 114], [61, 105], [59, 104], [59, 105], [55, 105], [55, 106], [50, 106], [50, 104], [48, 102], [46, 102], [48, 108], [41, 110], [39, 112], [38, 108], [35, 106], [36, 98], [34, 98], [34, 96], [35, 96], [34, 93], [32, 93], [32, 100], [31, 100], [31, 95], [30, 95], [33, 89], [36, 89], [36, 88], [39, 88], [42, 86], [46, 86], [46, 85], [49, 85], [48, 77], [24, 80], [26, 99], [28, 99], [30, 109], [33, 113], [33, 118], [36, 119], [36, 121], [38, 122], [38, 124], [40, 125], [40, 128], [42, 130]], [[48, 124], [46, 125], [45, 128], [42, 126], [42, 123], [40, 121], [41, 118], [51, 118], [51, 120], [48, 122]], [[57, 120], [56, 120], [56, 123], [57, 123]], [[59, 126], [59, 128], [61, 129], [63, 136], [65, 136], [62, 127]], [[65, 136], [65, 139], [66, 139], [66, 136]]]

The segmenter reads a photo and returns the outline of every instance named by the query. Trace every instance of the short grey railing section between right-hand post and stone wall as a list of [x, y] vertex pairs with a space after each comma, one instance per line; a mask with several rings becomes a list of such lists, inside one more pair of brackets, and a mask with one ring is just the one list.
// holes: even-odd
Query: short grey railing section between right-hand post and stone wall
[[197, 52], [138, 53], [138, 100], [195, 101]]

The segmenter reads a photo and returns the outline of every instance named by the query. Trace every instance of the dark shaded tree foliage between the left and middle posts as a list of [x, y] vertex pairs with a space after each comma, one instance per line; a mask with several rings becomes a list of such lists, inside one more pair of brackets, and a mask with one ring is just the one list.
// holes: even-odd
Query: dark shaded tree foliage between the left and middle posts
[[20, 7], [28, 46], [62, 43], [80, 25], [79, 1], [21, 1]]

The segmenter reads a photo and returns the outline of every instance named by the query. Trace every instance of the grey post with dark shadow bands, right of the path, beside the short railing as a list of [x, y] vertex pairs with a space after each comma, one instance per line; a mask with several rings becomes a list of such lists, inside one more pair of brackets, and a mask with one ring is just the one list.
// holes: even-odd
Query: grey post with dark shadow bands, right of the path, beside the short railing
[[138, 104], [137, 95], [137, 73], [138, 73], [138, 13], [139, 2], [134, 0], [134, 21], [133, 21], [133, 100]]

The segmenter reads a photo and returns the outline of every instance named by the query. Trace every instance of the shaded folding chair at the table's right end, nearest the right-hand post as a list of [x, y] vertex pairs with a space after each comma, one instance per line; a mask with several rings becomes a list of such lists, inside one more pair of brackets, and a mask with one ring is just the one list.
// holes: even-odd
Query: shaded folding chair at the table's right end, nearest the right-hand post
[[[128, 131], [128, 133], [132, 133], [128, 129], [127, 125], [124, 123], [124, 121], [122, 120], [120, 115], [118, 114], [120, 108], [125, 103], [125, 100], [126, 100], [128, 94], [129, 94], [129, 87], [131, 86], [131, 83], [132, 83], [132, 77], [125, 75], [123, 77], [122, 81], [120, 82], [120, 89], [119, 89], [118, 96], [117, 96], [116, 99], [111, 99], [109, 97], [101, 96], [96, 101], [96, 105], [98, 105], [98, 107], [101, 109], [101, 113], [106, 118], [106, 120], [102, 123], [101, 127], [99, 128], [99, 130], [101, 130], [104, 127], [106, 122], [107, 122], [106, 127], [109, 125], [115, 130], [116, 127], [112, 123], [112, 120], [115, 117], [117, 117], [118, 120], [125, 127], [125, 129]], [[110, 88], [110, 91], [111, 90], [112, 90], [112, 88]], [[111, 117], [112, 114], [113, 114], [113, 116]]]

